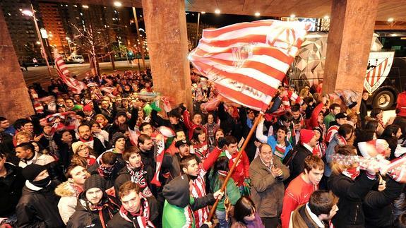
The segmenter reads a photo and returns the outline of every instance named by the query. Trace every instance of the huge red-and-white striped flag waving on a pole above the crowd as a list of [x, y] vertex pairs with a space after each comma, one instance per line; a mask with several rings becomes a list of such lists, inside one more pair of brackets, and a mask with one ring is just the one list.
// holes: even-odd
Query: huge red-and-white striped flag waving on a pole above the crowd
[[258, 20], [203, 30], [189, 60], [220, 95], [265, 111], [309, 28], [301, 22]]

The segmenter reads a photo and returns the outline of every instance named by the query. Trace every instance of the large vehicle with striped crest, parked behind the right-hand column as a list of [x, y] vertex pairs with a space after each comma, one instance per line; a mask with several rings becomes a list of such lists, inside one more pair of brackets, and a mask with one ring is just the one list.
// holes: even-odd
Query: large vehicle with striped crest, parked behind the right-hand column
[[[288, 76], [296, 88], [323, 82], [328, 32], [310, 32], [301, 44]], [[406, 32], [376, 31], [364, 80], [372, 107], [390, 109], [406, 83]]]

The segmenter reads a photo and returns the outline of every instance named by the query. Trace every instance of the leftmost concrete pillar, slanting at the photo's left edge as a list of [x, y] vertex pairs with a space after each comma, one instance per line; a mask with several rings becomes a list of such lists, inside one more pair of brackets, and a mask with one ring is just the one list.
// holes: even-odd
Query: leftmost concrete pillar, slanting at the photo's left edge
[[35, 114], [1, 10], [0, 72], [0, 115], [14, 121]]

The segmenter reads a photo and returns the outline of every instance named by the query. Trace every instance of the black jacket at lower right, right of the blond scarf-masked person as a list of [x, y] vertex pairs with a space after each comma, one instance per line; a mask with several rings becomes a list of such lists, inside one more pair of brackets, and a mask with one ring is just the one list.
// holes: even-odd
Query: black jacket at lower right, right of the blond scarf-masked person
[[391, 178], [387, 179], [383, 191], [369, 191], [362, 202], [366, 228], [393, 227], [393, 200], [400, 196], [405, 184], [400, 184]]

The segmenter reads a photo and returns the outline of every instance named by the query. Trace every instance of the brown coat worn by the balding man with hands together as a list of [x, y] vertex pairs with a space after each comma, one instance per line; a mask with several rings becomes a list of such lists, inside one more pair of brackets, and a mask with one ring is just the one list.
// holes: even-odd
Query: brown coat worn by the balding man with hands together
[[285, 186], [283, 181], [289, 177], [289, 169], [273, 155], [273, 167], [282, 169], [282, 178], [275, 179], [261, 157], [256, 157], [249, 166], [251, 178], [251, 199], [260, 217], [280, 217]]

